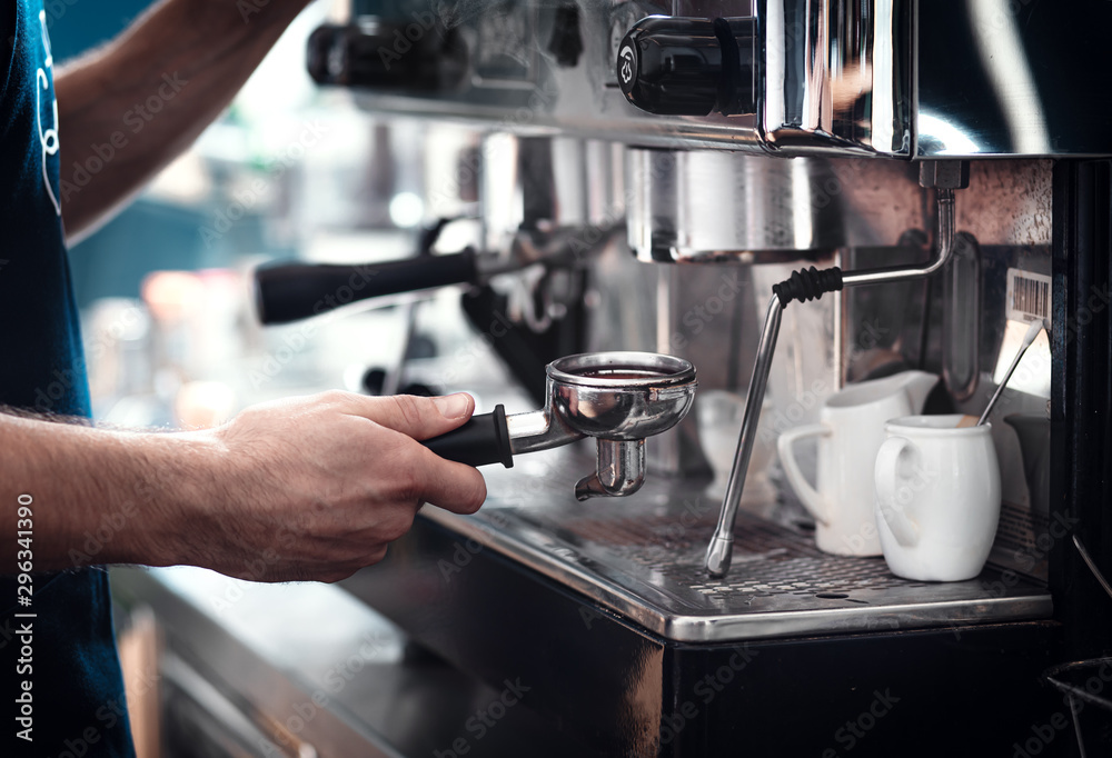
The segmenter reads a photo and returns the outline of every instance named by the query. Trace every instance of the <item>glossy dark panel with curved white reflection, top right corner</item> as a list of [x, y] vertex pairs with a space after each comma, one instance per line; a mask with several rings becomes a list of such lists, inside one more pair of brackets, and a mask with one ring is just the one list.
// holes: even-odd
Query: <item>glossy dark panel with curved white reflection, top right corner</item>
[[1112, 153], [1112, 4], [919, 3], [916, 154]]

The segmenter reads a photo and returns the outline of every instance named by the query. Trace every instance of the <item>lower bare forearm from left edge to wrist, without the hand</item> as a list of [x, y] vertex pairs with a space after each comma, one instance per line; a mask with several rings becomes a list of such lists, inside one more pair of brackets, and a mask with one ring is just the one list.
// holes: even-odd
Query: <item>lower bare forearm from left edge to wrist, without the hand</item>
[[[30, 548], [33, 570], [182, 560], [182, 521], [203, 499], [200, 459], [216, 446], [191, 435], [117, 432], [0, 413], [3, 574]], [[29, 521], [19, 521], [20, 506]], [[30, 532], [18, 545], [18, 532]], [[26, 558], [23, 555], [21, 558]]]

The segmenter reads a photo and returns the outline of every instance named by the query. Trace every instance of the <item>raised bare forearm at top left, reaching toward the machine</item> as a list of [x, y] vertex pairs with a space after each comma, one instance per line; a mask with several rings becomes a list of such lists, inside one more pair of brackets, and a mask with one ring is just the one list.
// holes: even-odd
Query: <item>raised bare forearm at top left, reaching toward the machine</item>
[[71, 240], [192, 143], [307, 2], [162, 0], [57, 73]]

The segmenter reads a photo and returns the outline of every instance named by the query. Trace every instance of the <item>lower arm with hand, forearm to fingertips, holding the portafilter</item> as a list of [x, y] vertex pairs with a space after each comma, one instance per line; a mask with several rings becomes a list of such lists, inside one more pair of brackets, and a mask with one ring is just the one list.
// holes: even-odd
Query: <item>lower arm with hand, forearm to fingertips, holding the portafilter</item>
[[0, 503], [9, 523], [26, 519], [20, 529], [33, 516], [40, 571], [187, 563], [336, 581], [381, 560], [423, 501], [460, 513], [483, 505], [477, 470], [416, 441], [474, 409], [467, 395], [325, 392], [170, 435], [0, 412]]

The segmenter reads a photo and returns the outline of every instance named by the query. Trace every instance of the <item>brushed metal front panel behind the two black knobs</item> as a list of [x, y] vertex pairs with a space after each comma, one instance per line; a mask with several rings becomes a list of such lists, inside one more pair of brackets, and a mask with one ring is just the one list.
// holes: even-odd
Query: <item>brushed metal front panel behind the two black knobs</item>
[[[410, 3], [417, 9], [419, 3]], [[439, 22], [460, 28], [468, 46], [480, 50], [475, 74], [465, 86], [445, 92], [381, 94], [354, 90], [350, 97], [374, 113], [463, 120], [495, 131], [518, 134], [576, 134], [659, 147], [729, 147], [763, 152], [754, 116], [658, 118], [626, 102], [614, 73], [616, 46], [637, 20], [653, 13], [681, 12], [664, 0], [610, 2], [583, 0], [579, 31], [584, 52], [575, 67], [559, 66], [547, 53], [552, 34], [549, 6], [542, 0], [509, 0], [492, 7], [476, 2], [437, 2]], [[684, 3], [677, 3], [684, 4]], [[749, 14], [751, 4], [714, 3], [693, 13]], [[423, 6], [419, 10], [426, 10]], [[405, 18], [408, 8], [398, 10]], [[507, 30], [517, 39], [510, 40]], [[502, 32], [499, 33], [499, 30]], [[497, 58], [516, 61], [489, 74]], [[338, 94], [338, 97], [348, 97]], [[677, 136], [682, 136], [677, 140]]]

